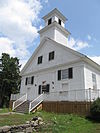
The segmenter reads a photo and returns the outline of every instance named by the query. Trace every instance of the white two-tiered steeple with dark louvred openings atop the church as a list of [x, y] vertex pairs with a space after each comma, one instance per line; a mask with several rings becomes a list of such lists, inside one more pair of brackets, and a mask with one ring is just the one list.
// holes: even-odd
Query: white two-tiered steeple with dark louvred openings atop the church
[[45, 27], [39, 31], [40, 41], [44, 37], [53, 39], [54, 41], [67, 45], [70, 33], [65, 29], [66, 17], [56, 8], [43, 17]]

